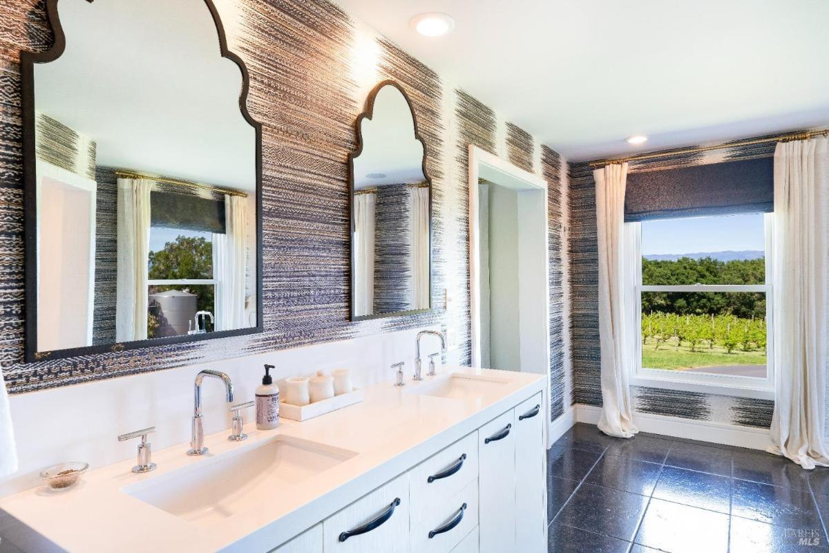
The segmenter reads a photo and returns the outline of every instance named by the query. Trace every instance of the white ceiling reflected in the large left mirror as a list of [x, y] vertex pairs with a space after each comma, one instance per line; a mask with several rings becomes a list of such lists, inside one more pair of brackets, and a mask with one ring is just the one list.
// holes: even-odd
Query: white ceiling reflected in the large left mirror
[[35, 66], [37, 111], [95, 140], [98, 165], [255, 189], [241, 73], [203, 0], [58, 8], [66, 49]]

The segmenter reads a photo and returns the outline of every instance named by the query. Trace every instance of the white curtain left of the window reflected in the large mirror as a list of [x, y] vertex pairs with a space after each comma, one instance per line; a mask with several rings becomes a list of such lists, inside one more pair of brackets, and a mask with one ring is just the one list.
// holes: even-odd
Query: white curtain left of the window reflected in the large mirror
[[118, 342], [147, 339], [151, 187], [143, 178], [118, 179]]

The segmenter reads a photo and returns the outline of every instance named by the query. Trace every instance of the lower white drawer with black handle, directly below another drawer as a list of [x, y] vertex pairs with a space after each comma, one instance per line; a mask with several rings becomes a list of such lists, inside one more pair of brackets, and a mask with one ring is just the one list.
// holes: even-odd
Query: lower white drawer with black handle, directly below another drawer
[[[465, 508], [463, 506], [466, 506]], [[449, 553], [478, 526], [478, 480], [444, 502], [432, 505], [432, 512], [411, 526], [410, 551]], [[431, 536], [431, 537], [429, 537]]]

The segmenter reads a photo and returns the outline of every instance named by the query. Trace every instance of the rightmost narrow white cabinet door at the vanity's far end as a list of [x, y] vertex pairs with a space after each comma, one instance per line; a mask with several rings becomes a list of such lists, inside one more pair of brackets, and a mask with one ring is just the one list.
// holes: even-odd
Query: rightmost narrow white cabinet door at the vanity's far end
[[516, 551], [546, 551], [546, 459], [541, 393], [515, 408]]

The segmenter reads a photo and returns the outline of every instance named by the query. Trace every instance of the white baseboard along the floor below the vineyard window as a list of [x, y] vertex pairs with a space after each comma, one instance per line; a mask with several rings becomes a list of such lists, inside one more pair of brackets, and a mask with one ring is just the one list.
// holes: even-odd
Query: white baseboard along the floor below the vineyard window
[[[597, 424], [602, 411], [600, 407], [593, 405], [574, 405], [571, 410], [575, 412], [575, 422], [588, 424]], [[562, 415], [559, 420], [564, 416]], [[557, 422], [558, 420], [553, 424]], [[735, 445], [749, 449], [766, 449], [771, 444], [768, 439], [768, 429], [737, 426], [736, 424], [688, 420], [649, 413], [634, 413], [633, 424], [636, 424], [642, 432], [675, 438], [698, 439], [713, 444]], [[561, 434], [564, 434], [564, 431]], [[552, 435], [552, 430], [550, 430], [550, 437]], [[553, 441], [555, 442], [555, 439]]]

